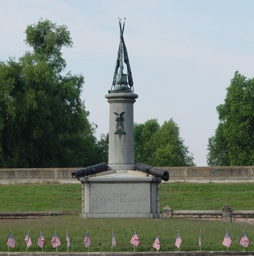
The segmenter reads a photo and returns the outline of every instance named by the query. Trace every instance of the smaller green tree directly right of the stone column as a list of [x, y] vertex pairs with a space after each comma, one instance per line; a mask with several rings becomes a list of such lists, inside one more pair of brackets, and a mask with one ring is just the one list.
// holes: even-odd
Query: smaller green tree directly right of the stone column
[[135, 162], [150, 166], [194, 166], [193, 155], [180, 137], [180, 129], [170, 119], [162, 126], [157, 119], [134, 124]]

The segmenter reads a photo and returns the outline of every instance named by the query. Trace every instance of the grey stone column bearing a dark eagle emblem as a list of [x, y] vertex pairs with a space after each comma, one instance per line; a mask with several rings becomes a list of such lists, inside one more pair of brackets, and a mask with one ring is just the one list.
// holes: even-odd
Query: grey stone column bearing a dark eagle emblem
[[[131, 90], [105, 95], [109, 111], [109, 170], [134, 170], [134, 103]], [[116, 113], [116, 114], [114, 114]], [[121, 115], [121, 117], [120, 117]], [[122, 118], [122, 119], [119, 119]], [[121, 121], [117, 121], [118, 120]], [[118, 128], [116, 128], [116, 125]]]

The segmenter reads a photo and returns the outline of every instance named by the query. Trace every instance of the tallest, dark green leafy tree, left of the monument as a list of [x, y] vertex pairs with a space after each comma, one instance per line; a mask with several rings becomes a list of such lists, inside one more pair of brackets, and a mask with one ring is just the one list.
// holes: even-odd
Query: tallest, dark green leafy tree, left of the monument
[[63, 75], [70, 32], [40, 19], [27, 26], [26, 43], [33, 51], [0, 62], [0, 167], [98, 163], [95, 125], [81, 101], [84, 77]]

